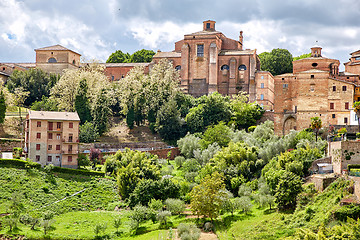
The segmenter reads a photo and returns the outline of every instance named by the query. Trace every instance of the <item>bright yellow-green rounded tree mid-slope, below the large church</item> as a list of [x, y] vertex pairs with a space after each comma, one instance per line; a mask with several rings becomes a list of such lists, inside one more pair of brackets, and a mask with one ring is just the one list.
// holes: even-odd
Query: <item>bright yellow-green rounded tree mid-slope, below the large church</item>
[[220, 122], [206, 129], [203, 138], [200, 140], [200, 145], [202, 149], [206, 149], [213, 143], [217, 143], [220, 147], [226, 147], [231, 140], [230, 133], [231, 129], [224, 122]]

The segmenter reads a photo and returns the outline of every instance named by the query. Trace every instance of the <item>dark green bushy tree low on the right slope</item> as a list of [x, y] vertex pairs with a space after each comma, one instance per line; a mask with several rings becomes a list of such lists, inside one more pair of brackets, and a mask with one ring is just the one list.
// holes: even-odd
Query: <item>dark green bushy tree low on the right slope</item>
[[275, 202], [279, 209], [294, 209], [296, 197], [302, 191], [299, 176], [292, 172], [284, 171], [279, 178], [275, 189]]

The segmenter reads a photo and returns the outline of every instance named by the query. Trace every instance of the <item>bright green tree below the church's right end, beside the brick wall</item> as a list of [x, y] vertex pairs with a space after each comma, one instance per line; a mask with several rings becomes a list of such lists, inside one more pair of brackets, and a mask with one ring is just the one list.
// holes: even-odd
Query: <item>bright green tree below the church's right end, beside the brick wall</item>
[[232, 110], [232, 120], [237, 129], [247, 129], [252, 125], [256, 125], [256, 121], [260, 120], [265, 110], [257, 103], [248, 103], [248, 97], [243, 94], [237, 95], [230, 101]]

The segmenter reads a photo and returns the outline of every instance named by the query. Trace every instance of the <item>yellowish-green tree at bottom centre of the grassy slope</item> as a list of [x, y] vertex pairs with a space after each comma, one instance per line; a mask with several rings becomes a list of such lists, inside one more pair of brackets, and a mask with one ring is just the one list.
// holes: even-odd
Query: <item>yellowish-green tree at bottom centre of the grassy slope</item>
[[225, 184], [218, 172], [207, 175], [190, 192], [191, 210], [198, 216], [216, 218], [221, 210]]

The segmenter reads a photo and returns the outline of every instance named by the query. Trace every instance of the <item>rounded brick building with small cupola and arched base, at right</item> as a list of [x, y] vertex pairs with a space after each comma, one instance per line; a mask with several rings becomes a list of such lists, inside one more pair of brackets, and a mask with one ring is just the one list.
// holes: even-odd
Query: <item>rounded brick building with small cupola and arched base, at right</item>
[[276, 134], [308, 128], [312, 117], [320, 117], [324, 127], [350, 124], [356, 84], [341, 77], [339, 61], [322, 57], [321, 49], [293, 61], [293, 73], [274, 77]]

